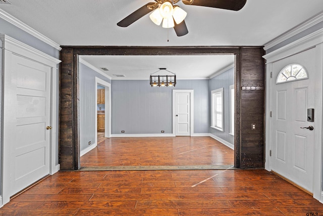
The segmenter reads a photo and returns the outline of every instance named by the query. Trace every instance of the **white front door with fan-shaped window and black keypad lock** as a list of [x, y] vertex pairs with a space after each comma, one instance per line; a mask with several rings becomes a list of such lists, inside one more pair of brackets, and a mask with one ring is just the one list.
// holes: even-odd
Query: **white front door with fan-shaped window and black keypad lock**
[[[307, 109], [315, 108], [316, 70], [310, 56], [315, 56], [314, 49], [273, 63], [272, 170], [312, 192], [315, 128], [301, 128], [314, 125], [307, 121]], [[294, 63], [306, 69], [308, 79], [276, 84], [279, 72]]]

